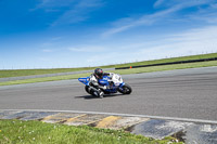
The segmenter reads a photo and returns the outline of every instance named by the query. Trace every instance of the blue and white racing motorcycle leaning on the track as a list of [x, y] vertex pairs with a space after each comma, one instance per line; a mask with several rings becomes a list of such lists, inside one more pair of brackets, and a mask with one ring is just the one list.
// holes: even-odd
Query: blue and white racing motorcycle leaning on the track
[[[86, 92], [94, 96], [94, 94], [88, 91], [88, 88], [90, 87], [89, 86], [90, 77], [78, 78], [78, 80], [84, 84], [86, 84], [85, 86]], [[113, 94], [117, 92], [120, 92], [123, 94], [130, 94], [132, 92], [131, 87], [125, 83], [123, 81], [123, 78], [117, 74], [113, 74], [112, 78], [108, 76], [103, 76], [103, 78], [99, 80], [99, 83], [100, 86], [105, 88], [101, 89], [104, 92], [104, 94]]]

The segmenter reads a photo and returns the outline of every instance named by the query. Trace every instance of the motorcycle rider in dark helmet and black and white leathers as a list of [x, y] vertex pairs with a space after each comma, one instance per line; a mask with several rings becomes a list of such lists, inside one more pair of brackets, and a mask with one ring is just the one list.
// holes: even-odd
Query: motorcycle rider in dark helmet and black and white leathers
[[102, 79], [103, 76], [112, 78], [113, 73], [103, 73], [101, 68], [95, 68], [94, 73], [90, 75], [89, 92], [99, 97], [103, 97], [103, 90], [107, 89], [106, 86], [103, 87], [99, 83], [99, 80]]

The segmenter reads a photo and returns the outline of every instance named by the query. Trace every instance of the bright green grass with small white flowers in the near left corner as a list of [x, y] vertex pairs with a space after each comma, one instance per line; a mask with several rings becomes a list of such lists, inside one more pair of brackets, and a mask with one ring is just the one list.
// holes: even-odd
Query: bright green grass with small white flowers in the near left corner
[[0, 120], [1, 144], [163, 144], [124, 131], [42, 123], [41, 121]]

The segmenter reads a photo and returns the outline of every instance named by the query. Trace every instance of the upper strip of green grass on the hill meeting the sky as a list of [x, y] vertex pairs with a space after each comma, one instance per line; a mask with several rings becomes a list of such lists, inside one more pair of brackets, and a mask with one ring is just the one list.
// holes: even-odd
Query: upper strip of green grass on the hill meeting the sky
[[[156, 60], [156, 61], [143, 61], [143, 62], [137, 62], [137, 63], [119, 64], [119, 65], [108, 65], [108, 66], [102, 66], [102, 68], [126, 67], [126, 66], [129, 67], [129, 66], [138, 66], [138, 65], [149, 65], [149, 64], [158, 64], [158, 63], [168, 63], [168, 62], [177, 62], [177, 61], [188, 61], [188, 60], [200, 60], [200, 58], [210, 58], [210, 57], [217, 57], [217, 53], [183, 56], [183, 57], [173, 57], [173, 58], [164, 58], [164, 60]], [[94, 68], [95, 67], [0, 70], [0, 78], [79, 71], [79, 70], [89, 70], [89, 69], [94, 69]]]

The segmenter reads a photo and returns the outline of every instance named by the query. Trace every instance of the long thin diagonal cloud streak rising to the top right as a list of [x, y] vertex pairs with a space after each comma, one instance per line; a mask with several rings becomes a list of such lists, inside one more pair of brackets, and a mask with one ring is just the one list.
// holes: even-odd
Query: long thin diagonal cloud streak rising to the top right
[[[138, 27], [138, 26], [149, 26], [152, 25], [156, 22], [159, 21], [165, 21], [166, 16], [170, 16], [171, 14], [174, 14], [175, 12], [178, 12], [182, 9], [187, 9], [187, 8], [191, 8], [191, 6], [199, 6], [199, 5], [203, 5], [203, 4], [209, 4], [210, 1], [213, 0], [190, 0], [190, 1], [179, 1], [179, 2], [175, 2], [174, 0], [171, 0], [174, 5], [170, 5], [162, 11], [155, 12], [153, 14], [149, 14], [149, 15], [142, 15], [139, 18], [135, 18], [135, 17], [124, 17], [120, 18], [116, 22], [113, 22], [113, 27], [110, 28], [108, 30], [106, 30], [105, 32], [102, 34], [102, 37], [106, 38], [110, 37], [112, 35], [128, 30], [130, 28], [133, 27]], [[162, 4], [164, 1], [163, 0], [158, 0], [156, 1], [156, 5]], [[168, 2], [167, 2], [168, 3]]]

